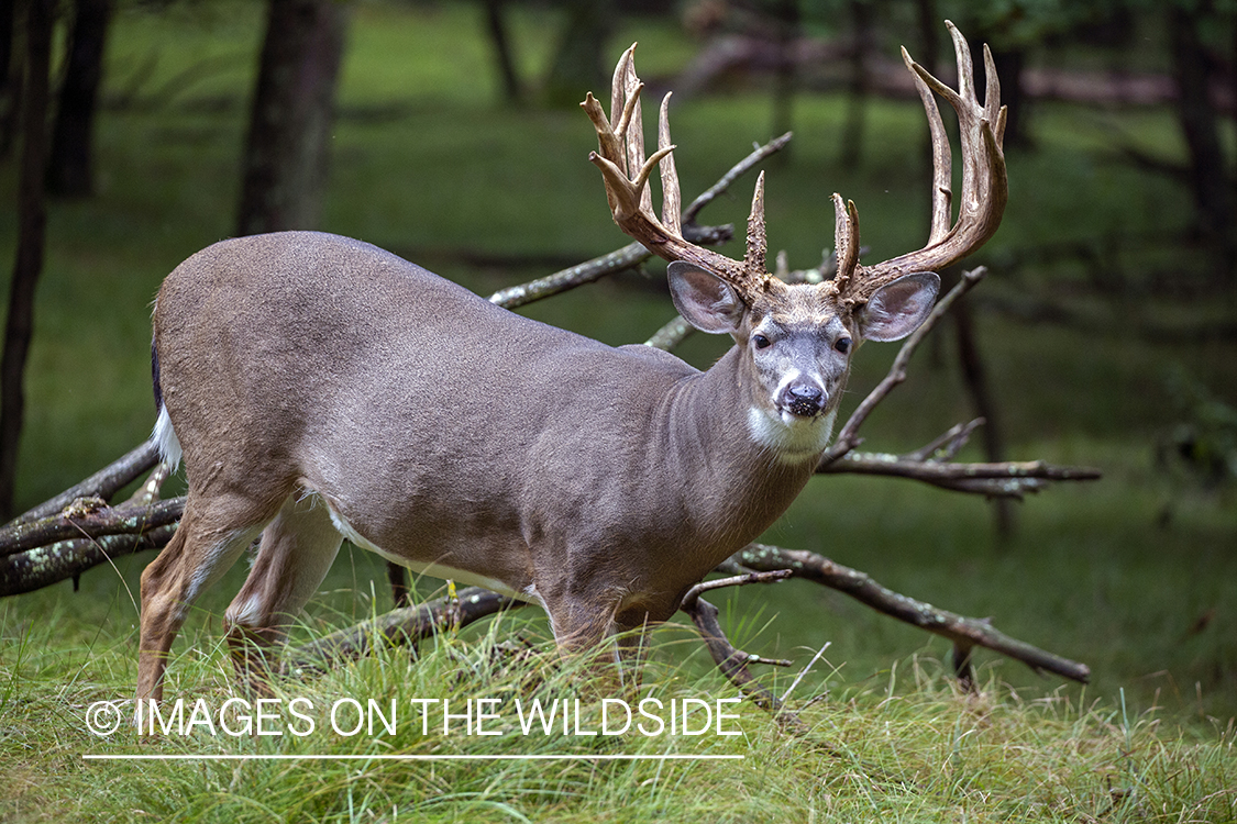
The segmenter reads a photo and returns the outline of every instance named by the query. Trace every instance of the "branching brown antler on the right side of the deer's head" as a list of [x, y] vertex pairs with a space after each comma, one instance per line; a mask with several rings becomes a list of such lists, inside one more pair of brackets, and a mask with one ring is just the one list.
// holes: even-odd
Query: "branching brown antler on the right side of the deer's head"
[[[992, 64], [992, 53], [983, 46], [983, 67], [987, 89], [981, 106], [975, 96], [975, 72], [966, 38], [945, 21], [957, 54], [957, 91], [929, 74], [902, 49], [902, 59], [915, 78], [915, 88], [928, 114], [933, 145], [933, 210], [928, 245], [875, 266], [858, 263], [858, 215], [855, 204], [842, 204], [834, 195], [837, 212], [836, 250], [837, 277], [835, 284], [851, 305], [867, 303], [882, 285], [910, 272], [935, 272], [956, 263], [997, 231], [1004, 212], [1009, 188], [1006, 179], [1004, 136], [1006, 109], [1001, 105], [1001, 84]], [[933, 91], [945, 98], [957, 112], [962, 148], [962, 196], [957, 221], [950, 227], [951, 168], [949, 137], [940, 119]]]

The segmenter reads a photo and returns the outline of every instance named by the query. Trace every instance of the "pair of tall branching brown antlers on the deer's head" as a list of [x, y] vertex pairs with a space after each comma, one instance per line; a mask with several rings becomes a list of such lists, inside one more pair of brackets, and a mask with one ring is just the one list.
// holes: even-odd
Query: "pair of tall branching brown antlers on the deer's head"
[[[966, 38], [954, 23], [945, 21], [954, 41], [957, 59], [957, 90], [933, 77], [915, 63], [907, 49], [902, 59], [915, 82], [928, 116], [933, 145], [933, 205], [931, 229], [927, 245], [907, 254], [863, 266], [858, 262], [858, 212], [855, 204], [834, 195], [835, 242], [837, 274], [831, 290], [849, 306], [861, 306], [883, 285], [912, 272], [936, 272], [977, 250], [996, 232], [1008, 200], [1002, 140], [1006, 109], [1001, 105], [1001, 85], [992, 53], [983, 47], [986, 89], [980, 104], [975, 89], [975, 68]], [[606, 198], [615, 222], [649, 252], [668, 261], [687, 261], [708, 269], [730, 283], [740, 296], [751, 304], [768, 287], [772, 275], [766, 272], [767, 242], [764, 235], [763, 175], [757, 180], [752, 211], [747, 221], [747, 251], [742, 261], [734, 261], [683, 238], [679, 179], [674, 168], [674, 145], [670, 142], [669, 95], [662, 100], [658, 119], [657, 151], [644, 153], [644, 137], [640, 109], [643, 83], [636, 77], [632, 44], [615, 68], [611, 88], [610, 116], [590, 93], [580, 104], [597, 131], [597, 151], [589, 159], [601, 169]], [[941, 121], [934, 94], [944, 98], [957, 114], [962, 190], [957, 204], [957, 220], [951, 222], [952, 163], [949, 136]], [[648, 179], [654, 168], [662, 177], [662, 216], [653, 212]]]

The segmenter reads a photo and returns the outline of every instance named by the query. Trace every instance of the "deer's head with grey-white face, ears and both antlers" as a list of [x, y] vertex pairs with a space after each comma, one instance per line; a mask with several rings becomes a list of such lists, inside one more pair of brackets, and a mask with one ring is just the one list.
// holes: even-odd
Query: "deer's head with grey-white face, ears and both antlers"
[[[688, 322], [705, 332], [729, 334], [750, 352], [750, 376], [763, 400], [753, 403], [751, 410], [753, 431], [792, 456], [823, 448], [855, 347], [863, 340], [894, 341], [914, 331], [935, 301], [940, 285], [936, 272], [982, 246], [1001, 222], [1008, 196], [1001, 149], [1006, 110], [999, 105], [992, 56], [985, 46], [987, 89], [980, 105], [966, 41], [952, 23], [945, 25], [957, 56], [957, 91], [902, 49], [923, 99], [933, 142], [928, 242], [919, 251], [881, 263], [860, 263], [858, 212], [854, 203], [834, 194], [837, 271], [819, 284], [785, 283], [766, 268], [763, 173], [756, 182], [742, 261], [683, 238], [668, 119], [670, 95], [662, 100], [658, 148], [646, 158], [640, 110], [643, 84], [636, 77], [635, 44], [615, 69], [610, 117], [591, 94], [580, 104], [596, 127], [599, 149], [589, 159], [601, 169], [615, 222], [670, 261], [670, 294]], [[950, 146], [933, 91], [950, 103], [960, 124], [962, 196], [952, 225]], [[654, 168], [662, 178], [661, 219], [653, 212], [648, 187]], [[797, 444], [802, 448], [794, 448]]]

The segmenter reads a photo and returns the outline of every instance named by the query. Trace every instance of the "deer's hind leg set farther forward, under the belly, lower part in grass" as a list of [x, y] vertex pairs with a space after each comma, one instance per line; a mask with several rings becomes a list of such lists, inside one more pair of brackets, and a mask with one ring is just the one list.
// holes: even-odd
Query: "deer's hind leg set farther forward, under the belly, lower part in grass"
[[341, 542], [323, 500], [302, 490], [266, 526], [254, 568], [224, 614], [236, 677], [250, 691], [270, 692], [275, 651], [327, 577]]

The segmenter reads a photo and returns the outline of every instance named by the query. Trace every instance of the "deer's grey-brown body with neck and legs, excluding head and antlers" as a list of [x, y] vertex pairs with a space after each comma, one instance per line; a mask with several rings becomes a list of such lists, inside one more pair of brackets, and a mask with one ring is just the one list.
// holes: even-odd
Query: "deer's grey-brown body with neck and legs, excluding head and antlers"
[[275, 640], [346, 535], [538, 600], [560, 640], [591, 644], [673, 614], [789, 505], [828, 436], [790, 461], [760, 442], [737, 348], [708, 372], [612, 348], [314, 232], [186, 261], [155, 351], [162, 448], [190, 490], [143, 577], [143, 651], [263, 528], [238, 631]]

